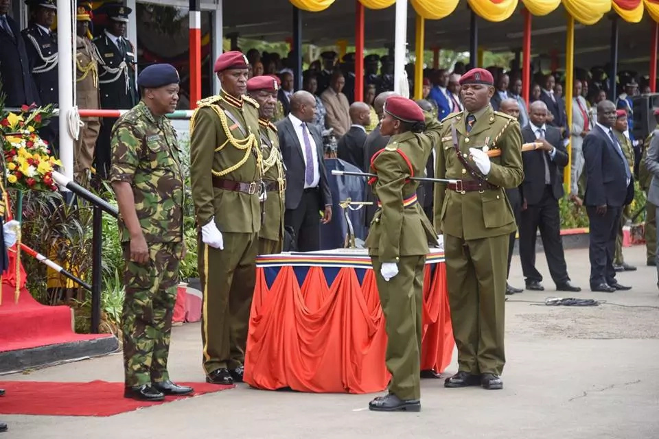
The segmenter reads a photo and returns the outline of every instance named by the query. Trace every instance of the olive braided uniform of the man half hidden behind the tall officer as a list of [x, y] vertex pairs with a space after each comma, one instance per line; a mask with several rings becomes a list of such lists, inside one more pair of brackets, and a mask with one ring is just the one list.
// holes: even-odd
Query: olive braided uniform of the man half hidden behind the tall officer
[[279, 150], [277, 127], [272, 122], [259, 119], [261, 154], [263, 156], [263, 182], [268, 198], [263, 203], [263, 224], [259, 231], [259, 254], [281, 252], [284, 242], [284, 191], [286, 173]]

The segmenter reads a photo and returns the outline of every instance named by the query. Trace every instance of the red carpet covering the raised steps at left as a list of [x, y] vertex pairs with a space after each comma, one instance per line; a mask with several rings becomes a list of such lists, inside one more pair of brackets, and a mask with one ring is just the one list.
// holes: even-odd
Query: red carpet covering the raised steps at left
[[14, 303], [14, 289], [14, 286], [7, 283], [2, 285], [0, 352], [109, 336], [108, 334], [93, 335], [73, 332], [71, 308], [41, 305], [25, 288], [21, 291], [19, 302], [16, 304]]

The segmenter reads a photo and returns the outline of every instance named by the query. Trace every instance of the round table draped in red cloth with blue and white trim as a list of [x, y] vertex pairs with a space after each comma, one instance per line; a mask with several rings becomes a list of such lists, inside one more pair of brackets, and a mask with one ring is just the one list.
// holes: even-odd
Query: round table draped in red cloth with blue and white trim
[[[244, 381], [300, 392], [379, 392], [389, 383], [386, 333], [367, 250], [257, 258]], [[424, 273], [421, 370], [450, 364], [454, 340], [443, 252]]]

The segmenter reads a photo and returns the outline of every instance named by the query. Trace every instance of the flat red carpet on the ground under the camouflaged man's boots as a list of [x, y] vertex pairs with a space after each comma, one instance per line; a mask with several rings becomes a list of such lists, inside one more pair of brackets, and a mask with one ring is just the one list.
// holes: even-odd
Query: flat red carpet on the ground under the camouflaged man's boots
[[170, 403], [205, 393], [220, 392], [233, 385], [178, 383], [190, 385], [194, 394], [165, 396], [165, 401], [146, 403], [124, 398], [124, 383], [54, 383], [50, 381], [0, 381], [0, 414], [36, 414], [43, 416], [112, 416], [142, 407]]

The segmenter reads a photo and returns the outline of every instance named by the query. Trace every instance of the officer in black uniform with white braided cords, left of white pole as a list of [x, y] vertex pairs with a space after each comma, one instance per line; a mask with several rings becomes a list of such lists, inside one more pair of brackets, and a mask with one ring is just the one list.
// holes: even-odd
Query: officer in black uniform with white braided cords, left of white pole
[[[30, 60], [32, 79], [39, 93], [42, 105], [58, 104], [58, 51], [57, 36], [51, 31], [57, 16], [55, 0], [28, 0], [30, 25], [21, 35], [25, 40], [25, 51]], [[58, 149], [58, 117], [53, 117], [47, 126], [39, 130], [39, 136]]]

